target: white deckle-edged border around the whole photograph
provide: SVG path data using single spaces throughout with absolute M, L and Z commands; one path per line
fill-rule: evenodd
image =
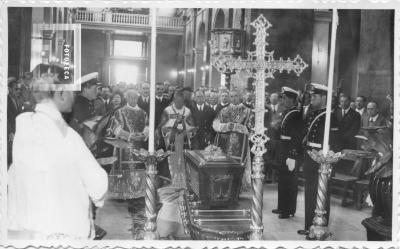
M 399 248 L 400 206 L 399 206 L 399 163 L 400 163 L 400 14 L 398 1 L 390 0 L 165 0 L 165 1 L 1 1 L 0 3 L 0 248 Z M 394 9 L 394 122 L 393 122 L 393 216 L 392 241 L 9 241 L 7 227 L 7 72 L 8 72 L 8 15 L 7 7 L 143 7 L 143 8 L 313 8 L 313 9 Z M 397 165 L 396 167 L 394 167 Z M 268 224 L 265 224 L 266 226 Z

